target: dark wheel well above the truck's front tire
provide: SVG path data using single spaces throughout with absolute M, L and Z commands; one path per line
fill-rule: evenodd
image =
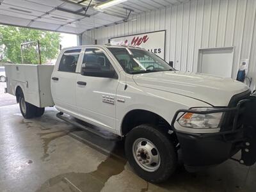
M 151 111 L 143 109 L 134 109 L 129 111 L 122 122 L 122 134 L 125 136 L 131 129 L 141 124 L 157 125 L 164 132 L 172 129 L 171 125 L 163 117 Z

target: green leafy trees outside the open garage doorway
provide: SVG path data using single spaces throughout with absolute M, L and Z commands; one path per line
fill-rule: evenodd
M 13 26 L 0 26 L 0 55 L 3 56 L 3 61 L 22 63 L 20 44 L 37 40 L 40 42 L 42 63 L 55 59 L 60 51 L 60 33 L 16 28 Z M 39 63 L 36 43 L 24 46 L 23 58 L 24 63 Z

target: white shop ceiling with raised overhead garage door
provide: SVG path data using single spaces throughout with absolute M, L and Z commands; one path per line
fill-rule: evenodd
M 106 0 L 0 0 L 0 24 L 79 35 L 132 16 L 189 0 L 127 0 L 103 10 Z

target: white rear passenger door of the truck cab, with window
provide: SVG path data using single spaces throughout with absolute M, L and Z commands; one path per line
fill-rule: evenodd
M 60 59 L 60 64 L 52 72 L 52 99 L 56 108 L 62 112 L 76 112 L 76 67 L 80 52 L 81 49 L 65 51 Z

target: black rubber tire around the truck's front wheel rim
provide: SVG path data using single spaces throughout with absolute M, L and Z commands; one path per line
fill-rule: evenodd
M 134 142 L 136 143 L 136 140 L 140 140 L 140 138 L 145 138 L 152 142 L 159 152 L 161 161 L 159 162 L 159 167 L 157 170 L 154 170 L 154 172 L 144 170 L 139 163 L 137 163 L 138 160 L 135 160 L 136 157 L 133 155 L 133 145 Z M 153 127 L 152 125 L 139 125 L 134 127 L 134 129 L 127 134 L 125 139 L 125 155 L 134 171 L 148 182 L 164 182 L 177 168 L 177 151 L 172 141 L 170 141 L 167 134 L 159 131 L 157 127 Z

